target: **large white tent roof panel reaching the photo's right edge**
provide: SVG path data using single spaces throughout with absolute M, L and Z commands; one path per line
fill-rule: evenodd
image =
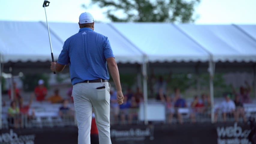
M 256 41 L 233 25 L 180 24 L 178 27 L 210 52 L 215 62 L 256 61 Z

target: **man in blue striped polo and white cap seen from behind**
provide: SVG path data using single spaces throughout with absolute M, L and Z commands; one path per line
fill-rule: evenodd
M 78 144 L 90 144 L 92 108 L 99 143 L 111 144 L 107 66 L 116 85 L 118 103 L 122 104 L 124 96 L 118 67 L 108 38 L 94 32 L 94 19 L 90 13 L 79 16 L 79 27 L 79 32 L 65 41 L 57 63 L 51 63 L 51 70 L 61 72 L 69 64 L 78 124 Z

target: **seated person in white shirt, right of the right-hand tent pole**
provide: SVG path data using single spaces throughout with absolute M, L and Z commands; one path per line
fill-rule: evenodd
M 215 122 L 217 122 L 218 112 L 223 115 L 223 122 L 227 121 L 227 116 L 234 116 L 234 112 L 236 109 L 235 103 L 230 99 L 231 95 L 226 93 L 224 94 L 225 100 L 219 105 L 217 111 L 215 112 Z

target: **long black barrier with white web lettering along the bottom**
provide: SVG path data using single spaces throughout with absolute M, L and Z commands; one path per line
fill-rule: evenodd
M 255 123 L 112 125 L 112 144 L 255 144 Z M 1 144 L 77 143 L 77 127 L 5 129 Z

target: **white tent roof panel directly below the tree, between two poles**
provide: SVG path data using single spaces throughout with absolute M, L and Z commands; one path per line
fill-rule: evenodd
M 112 23 L 150 62 L 207 61 L 209 54 L 169 23 Z

